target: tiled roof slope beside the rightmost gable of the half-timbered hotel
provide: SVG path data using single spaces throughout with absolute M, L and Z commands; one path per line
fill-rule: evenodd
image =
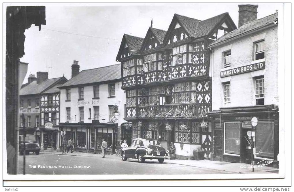
M 197 29 L 195 30 L 194 37 L 202 37 L 208 35 L 213 28 L 217 26 L 217 24 L 224 18 L 225 15 L 229 16 L 229 13 L 223 13 L 214 17 L 211 17 L 209 19 L 205 19 L 203 21 L 199 21 L 199 25 L 197 26 Z

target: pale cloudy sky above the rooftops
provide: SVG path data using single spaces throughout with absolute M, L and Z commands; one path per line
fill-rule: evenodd
M 49 78 L 71 78 L 71 65 L 79 61 L 80 71 L 117 64 L 116 55 L 123 34 L 144 38 L 153 27 L 167 30 L 173 15 L 208 19 L 228 12 L 238 26 L 240 3 L 189 4 L 42 4 L 46 6 L 46 25 L 25 31 L 25 55 L 29 74 L 49 72 Z M 30 4 L 31 5 L 31 4 Z M 41 5 L 41 4 L 38 4 Z M 258 4 L 257 19 L 281 10 L 282 4 Z

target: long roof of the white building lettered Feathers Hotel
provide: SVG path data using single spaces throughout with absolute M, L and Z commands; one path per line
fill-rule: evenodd
M 121 79 L 121 64 L 83 70 L 60 87 L 91 84 L 116 79 Z

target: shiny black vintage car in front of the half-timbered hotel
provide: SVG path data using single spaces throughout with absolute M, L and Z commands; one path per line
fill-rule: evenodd
M 136 158 L 140 163 L 145 159 L 158 159 L 163 163 L 164 159 L 170 158 L 169 151 L 161 147 L 158 140 L 137 138 L 133 140 L 130 147 L 121 150 L 121 158 L 126 161 L 128 158 Z

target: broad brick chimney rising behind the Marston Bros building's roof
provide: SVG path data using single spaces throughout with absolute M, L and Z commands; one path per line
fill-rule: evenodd
M 257 19 L 258 5 L 238 5 L 239 6 L 239 22 L 238 27 Z

